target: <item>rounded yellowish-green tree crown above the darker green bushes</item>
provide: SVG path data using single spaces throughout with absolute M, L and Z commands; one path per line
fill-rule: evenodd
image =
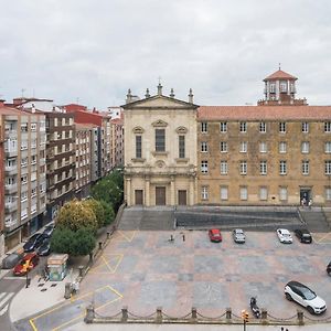
M 82 227 L 87 227 L 95 233 L 97 229 L 97 218 L 89 206 L 74 199 L 65 203 L 60 210 L 56 226 L 60 228 L 70 228 L 74 232 Z

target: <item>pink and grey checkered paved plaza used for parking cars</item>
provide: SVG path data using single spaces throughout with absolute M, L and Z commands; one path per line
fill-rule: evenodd
M 124 306 L 137 316 L 149 316 L 157 307 L 171 317 L 183 317 L 192 307 L 206 317 L 221 316 L 227 307 L 239 316 L 243 309 L 249 311 L 252 296 L 271 317 L 287 319 L 300 309 L 284 296 L 285 284 L 292 279 L 327 301 L 324 319 L 331 317 L 330 259 L 331 234 L 316 234 L 311 245 L 297 238 L 285 245 L 274 232 L 246 232 L 246 243 L 235 244 L 231 232 L 223 233 L 222 243 L 211 243 L 206 231 L 118 231 L 77 297 L 34 316 L 30 324 L 46 330 L 47 322 L 50 330 L 64 330 L 82 322 L 89 302 L 99 316 L 113 316 Z M 30 330 L 23 325 L 18 323 L 19 330 Z

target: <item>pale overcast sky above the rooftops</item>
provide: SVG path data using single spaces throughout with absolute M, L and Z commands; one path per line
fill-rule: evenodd
M 330 0 L 0 0 L 0 95 L 106 108 L 128 88 L 256 104 L 278 70 L 331 105 Z

